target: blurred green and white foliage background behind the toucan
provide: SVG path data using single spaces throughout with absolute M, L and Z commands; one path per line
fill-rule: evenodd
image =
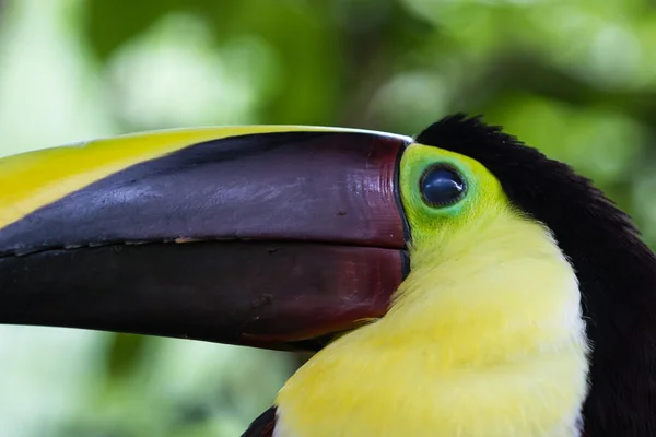
M 456 110 L 571 163 L 656 244 L 655 1 L 0 0 L 0 155 L 197 125 L 415 134 Z M 0 327 L 0 436 L 238 436 L 297 362 Z

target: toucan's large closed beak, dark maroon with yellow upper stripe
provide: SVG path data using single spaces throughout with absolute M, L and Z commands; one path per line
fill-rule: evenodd
M 410 140 L 216 132 L 0 161 L 0 323 L 305 349 L 383 316 L 408 270 Z

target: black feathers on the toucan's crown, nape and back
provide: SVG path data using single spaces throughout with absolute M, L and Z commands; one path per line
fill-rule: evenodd
M 594 347 L 585 435 L 656 436 L 656 257 L 629 216 L 570 166 L 478 117 L 446 117 L 417 142 L 484 165 L 573 264 Z

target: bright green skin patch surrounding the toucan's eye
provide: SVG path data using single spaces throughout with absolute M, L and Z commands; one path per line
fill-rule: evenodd
M 456 203 L 446 206 L 426 204 L 421 193 L 421 178 L 435 164 L 455 168 L 465 180 L 467 191 Z M 457 153 L 422 144 L 411 144 L 401 157 L 401 201 L 410 224 L 412 246 L 441 240 L 490 210 L 507 205 L 501 185 L 480 163 Z

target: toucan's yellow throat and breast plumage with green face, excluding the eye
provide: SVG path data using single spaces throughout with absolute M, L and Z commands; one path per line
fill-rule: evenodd
M 478 194 L 429 221 L 403 191 L 411 274 L 384 318 L 288 381 L 277 437 L 578 435 L 588 347 L 571 265 L 480 164 L 417 144 L 403 156 L 427 158 L 457 161 Z

